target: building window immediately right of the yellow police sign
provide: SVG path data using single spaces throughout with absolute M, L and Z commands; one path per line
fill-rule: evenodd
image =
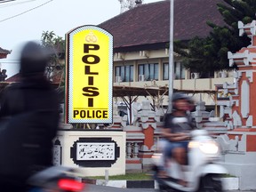
M 133 65 L 116 66 L 115 73 L 121 82 L 133 82 Z

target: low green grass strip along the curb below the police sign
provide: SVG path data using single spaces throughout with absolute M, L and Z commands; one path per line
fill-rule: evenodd
M 105 176 L 88 177 L 92 180 L 105 180 Z M 125 175 L 108 176 L 108 180 L 152 180 L 152 176 L 146 172 L 126 173 Z

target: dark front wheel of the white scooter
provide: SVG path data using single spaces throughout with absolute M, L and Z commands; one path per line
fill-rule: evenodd
M 220 175 L 207 174 L 200 180 L 197 192 L 223 192 Z

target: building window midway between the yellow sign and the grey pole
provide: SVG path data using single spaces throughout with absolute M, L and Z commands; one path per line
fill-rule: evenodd
M 138 71 L 145 81 L 158 80 L 158 63 L 140 64 Z

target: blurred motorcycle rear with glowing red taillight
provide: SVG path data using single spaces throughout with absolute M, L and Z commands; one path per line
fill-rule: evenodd
M 80 192 L 84 183 L 77 179 L 76 170 L 64 166 L 52 166 L 37 172 L 28 179 L 29 192 Z

